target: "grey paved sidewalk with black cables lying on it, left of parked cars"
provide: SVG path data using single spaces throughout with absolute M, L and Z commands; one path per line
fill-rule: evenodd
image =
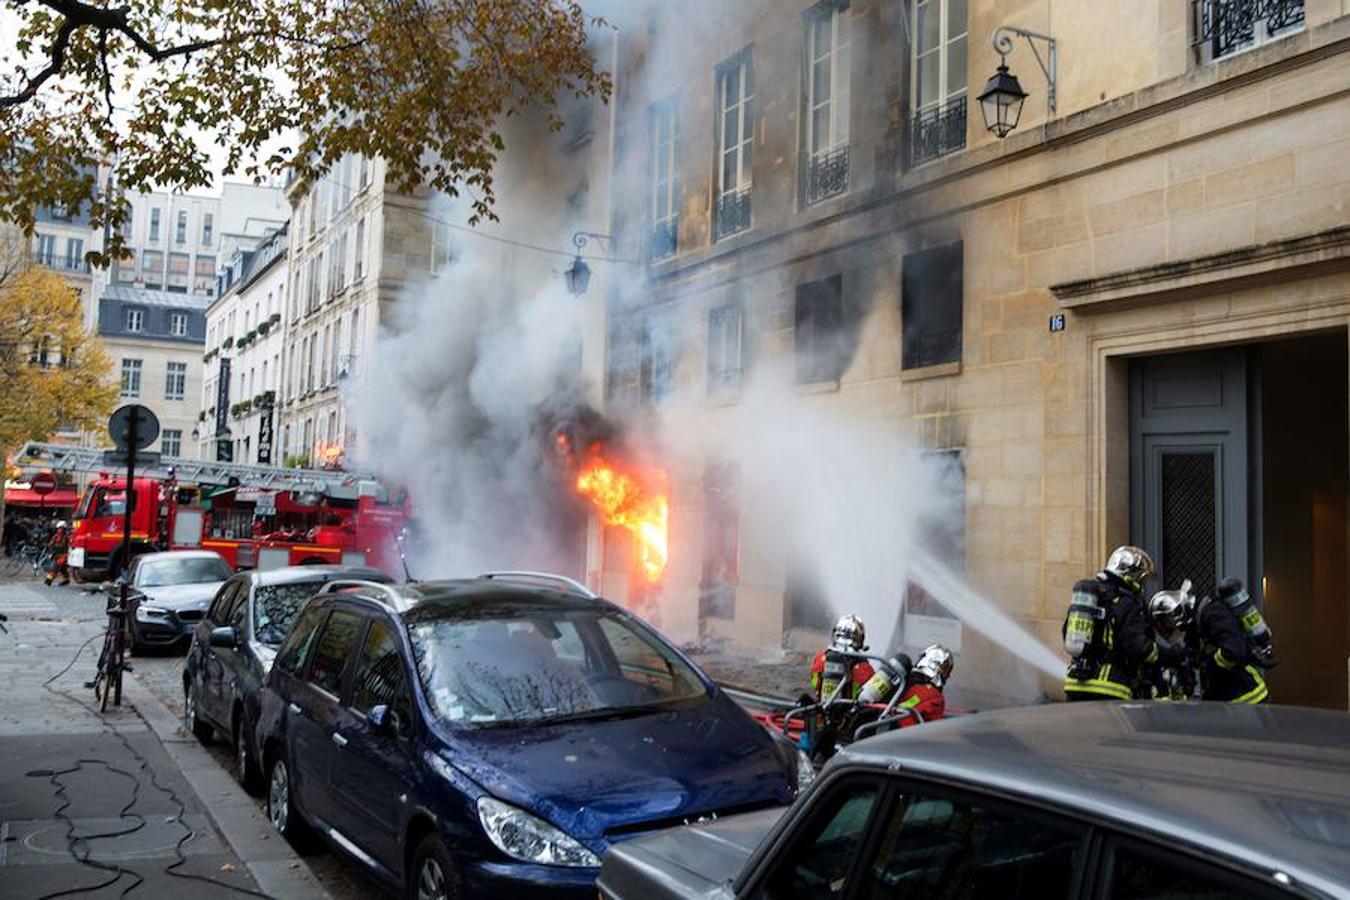
M 103 607 L 101 595 L 73 587 L 0 583 L 9 619 L 0 634 L 0 896 L 327 897 L 256 803 L 134 677 L 123 706 L 99 715 L 84 683 Z

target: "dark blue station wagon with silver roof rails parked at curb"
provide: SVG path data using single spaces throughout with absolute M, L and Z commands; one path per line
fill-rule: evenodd
M 556 576 L 332 582 L 262 691 L 267 811 L 409 897 L 587 897 L 605 850 L 811 777 L 641 621 Z

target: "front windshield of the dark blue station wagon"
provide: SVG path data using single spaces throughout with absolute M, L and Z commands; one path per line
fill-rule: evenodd
M 433 711 L 467 727 L 609 718 L 707 694 L 688 664 L 612 611 L 479 610 L 408 631 Z

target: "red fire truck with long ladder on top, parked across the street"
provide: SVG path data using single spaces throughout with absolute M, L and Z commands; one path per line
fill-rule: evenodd
M 126 475 L 109 474 L 103 451 L 59 444 L 26 444 L 16 461 L 96 474 L 76 506 L 70 571 L 80 582 L 120 572 Z M 397 578 L 408 519 L 406 495 L 369 475 L 162 457 L 136 466 L 126 556 L 208 549 L 236 569 L 340 563 Z

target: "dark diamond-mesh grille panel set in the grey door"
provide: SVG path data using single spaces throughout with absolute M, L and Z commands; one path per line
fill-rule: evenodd
M 1162 587 L 1214 591 L 1219 519 L 1214 453 L 1162 455 Z

